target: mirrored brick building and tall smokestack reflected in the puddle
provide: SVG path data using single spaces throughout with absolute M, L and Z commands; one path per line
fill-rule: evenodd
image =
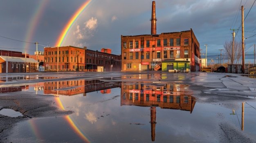
M 151 140 L 155 141 L 156 107 L 164 109 L 186 110 L 192 113 L 195 98 L 187 85 L 162 82 L 122 83 L 121 106 L 150 107 Z

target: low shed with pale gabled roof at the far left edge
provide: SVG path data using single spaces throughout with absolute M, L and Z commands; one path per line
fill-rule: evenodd
M 32 58 L 0 56 L 0 73 L 30 73 L 38 71 L 38 62 Z

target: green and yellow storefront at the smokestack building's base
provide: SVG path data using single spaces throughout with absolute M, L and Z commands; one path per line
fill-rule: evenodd
M 162 70 L 190 70 L 190 61 L 162 61 Z

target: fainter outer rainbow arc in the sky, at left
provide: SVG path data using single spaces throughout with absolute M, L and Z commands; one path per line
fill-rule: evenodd
M 35 32 L 36 26 L 38 25 L 38 22 L 43 14 L 43 10 L 45 9 L 48 2 L 49 2 L 49 0 L 42 0 L 37 5 L 36 11 L 34 12 L 34 15 L 30 19 L 29 25 L 27 26 L 27 34 L 25 36 L 25 41 L 28 41 L 28 42 L 32 41 L 32 37 Z M 24 45 L 25 50 L 27 50 L 29 44 L 31 44 L 28 42 L 25 42 L 25 45 Z

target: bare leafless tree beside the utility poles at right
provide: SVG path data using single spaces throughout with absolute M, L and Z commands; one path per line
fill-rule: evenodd
M 232 59 L 232 49 L 233 49 L 233 41 L 226 41 L 224 44 L 224 48 L 226 50 L 226 55 L 228 59 L 231 61 Z M 234 57 L 233 64 L 238 64 L 239 60 L 242 56 L 242 43 L 238 43 L 236 40 L 234 41 Z M 231 62 L 232 63 L 232 62 Z

